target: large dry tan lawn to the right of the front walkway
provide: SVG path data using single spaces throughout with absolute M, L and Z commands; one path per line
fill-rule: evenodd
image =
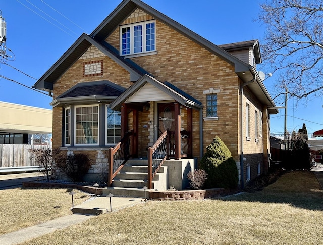
M 260 192 L 149 201 L 24 244 L 322 244 L 322 198 L 313 173 L 289 172 Z

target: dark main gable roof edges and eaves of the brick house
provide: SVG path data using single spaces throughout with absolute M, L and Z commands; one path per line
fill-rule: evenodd
M 200 46 L 212 54 L 217 55 L 235 67 L 236 74 L 243 82 L 248 82 L 256 77 L 256 82 L 249 85 L 250 90 L 256 94 L 261 103 L 268 107 L 275 107 L 270 94 L 264 87 L 261 79 L 259 78 L 254 67 L 249 66 L 233 55 L 229 54 L 223 48 L 213 44 L 205 38 L 199 36 L 195 32 L 189 30 L 178 22 L 172 20 L 168 16 L 160 13 L 149 5 L 141 2 L 140 0 L 124 0 L 121 4 L 105 18 L 105 20 L 90 34 L 82 34 L 81 37 L 69 48 L 67 52 L 35 83 L 34 88 L 51 92 L 53 90 L 53 83 L 55 83 L 72 65 L 76 62 L 81 55 L 91 46 L 94 45 L 99 48 L 105 55 L 109 56 L 119 65 L 124 67 L 130 73 L 130 80 L 135 81 L 141 75 L 147 74 L 143 72 L 144 69 L 139 69 L 130 59 L 124 59 L 112 50 L 112 47 L 105 42 L 109 36 L 119 25 L 135 10 L 141 9 L 147 14 L 155 17 L 159 21 L 183 34 L 187 38 L 196 42 Z M 270 109 L 271 114 L 278 113 L 277 109 Z

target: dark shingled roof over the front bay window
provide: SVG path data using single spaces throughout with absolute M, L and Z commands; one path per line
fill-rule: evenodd
M 50 105 L 82 104 L 85 102 L 111 102 L 126 89 L 110 81 L 81 82 L 54 99 Z

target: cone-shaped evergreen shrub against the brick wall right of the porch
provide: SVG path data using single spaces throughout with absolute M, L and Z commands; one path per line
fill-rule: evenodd
M 236 188 L 238 170 L 231 152 L 219 137 L 215 137 L 206 147 L 201 169 L 207 173 L 206 188 Z

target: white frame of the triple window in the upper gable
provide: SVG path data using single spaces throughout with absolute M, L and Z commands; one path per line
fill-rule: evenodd
M 149 50 L 146 51 L 146 24 L 149 23 L 155 23 L 155 49 L 154 50 Z M 134 36 L 133 36 L 133 29 L 134 26 L 138 26 L 138 25 L 142 25 L 142 52 L 138 52 L 138 53 L 134 53 Z M 130 54 L 122 54 L 122 29 L 123 28 L 127 28 L 130 27 Z M 156 20 L 150 20 L 150 21 L 144 21 L 144 22 L 139 22 L 139 23 L 133 23 L 133 24 L 129 24 L 129 25 L 123 25 L 120 26 L 120 30 L 119 30 L 119 34 L 120 34 L 120 56 L 123 56 L 125 58 L 131 58 L 131 57 L 138 57 L 138 56 L 142 56 L 142 55 L 146 55 L 146 54 L 150 54 L 150 55 L 154 55 L 156 54 Z

